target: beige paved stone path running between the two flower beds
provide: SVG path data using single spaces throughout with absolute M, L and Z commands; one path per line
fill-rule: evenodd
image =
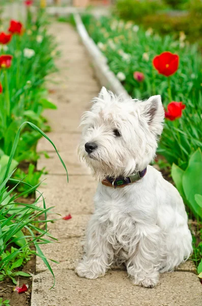
M 49 137 L 59 149 L 69 172 L 67 185 L 65 171 L 49 143 L 41 139 L 38 151 L 47 150 L 49 159 L 41 158 L 38 168 L 46 167 L 47 185 L 41 187 L 48 207 L 70 220 L 49 224 L 50 233 L 60 243 L 42 245 L 45 255 L 59 261 L 52 263 L 56 284 L 42 261 L 37 258 L 37 275 L 34 277 L 32 306 L 199 306 L 201 284 L 194 274 L 191 262 L 178 271 L 161 275 L 154 289 L 135 287 L 126 271 L 114 268 L 104 277 L 91 280 L 80 278 L 74 268 L 83 254 L 86 224 L 93 212 L 93 194 L 96 183 L 89 170 L 79 162 L 77 145 L 80 137 L 80 116 L 89 109 L 89 101 L 98 94 L 100 86 L 77 33 L 68 24 L 53 23 L 50 32 L 60 45 L 62 56 L 57 60 L 59 72 L 52 76 L 56 84 L 48 84 L 50 98 L 57 111 L 46 111 L 52 126 Z M 54 218 L 56 215 L 49 215 Z M 57 216 L 58 217 L 58 216 Z

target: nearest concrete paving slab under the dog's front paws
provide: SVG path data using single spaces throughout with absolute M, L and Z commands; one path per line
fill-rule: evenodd
M 32 306 L 200 306 L 202 286 L 189 272 L 160 276 L 156 288 L 133 286 L 125 271 L 86 279 L 71 270 L 54 269 L 56 284 L 48 271 L 35 276 Z

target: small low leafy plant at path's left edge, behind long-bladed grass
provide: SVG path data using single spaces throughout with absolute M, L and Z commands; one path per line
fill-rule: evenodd
M 42 174 L 45 174 L 46 172 L 44 171 L 45 168 L 43 168 L 40 171 L 36 171 L 35 170 L 35 165 L 30 164 L 28 166 L 28 173 L 26 174 L 22 169 L 17 169 L 13 175 L 13 179 L 17 179 L 19 181 L 23 181 L 25 183 L 28 183 L 28 185 L 18 185 L 17 186 L 17 190 L 19 192 L 24 192 L 27 191 L 27 193 L 24 194 L 24 197 L 27 197 L 30 194 L 33 194 L 34 192 L 32 191 L 32 193 L 28 192 L 29 185 L 37 185 L 39 183 L 40 177 Z

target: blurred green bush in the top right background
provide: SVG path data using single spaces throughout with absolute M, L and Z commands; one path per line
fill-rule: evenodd
M 182 9 L 170 10 L 171 9 Z M 164 9 L 164 10 L 163 10 Z M 200 0 L 166 0 L 155 4 L 153 1 L 118 1 L 115 13 L 125 19 L 142 24 L 145 29 L 152 27 L 160 34 L 185 32 L 190 42 L 202 45 L 202 2 Z

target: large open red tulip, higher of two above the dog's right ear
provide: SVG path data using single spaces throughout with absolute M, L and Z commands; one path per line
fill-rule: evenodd
M 178 70 L 179 56 L 171 52 L 163 52 L 153 59 L 153 65 L 160 74 L 169 77 Z

